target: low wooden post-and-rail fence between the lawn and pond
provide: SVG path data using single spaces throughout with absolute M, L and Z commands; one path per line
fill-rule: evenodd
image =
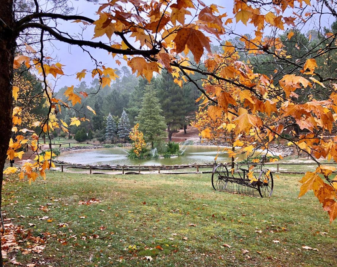
M 337 164 L 337 162 L 331 162 L 331 163 L 321 163 L 322 165 L 327 164 Z M 232 166 L 232 164 L 224 164 L 225 166 Z M 317 165 L 316 163 L 252 163 L 248 164 L 250 166 L 276 166 L 276 172 L 277 173 L 286 173 L 286 174 L 304 174 L 305 172 L 280 172 L 279 166 L 281 165 Z M 76 169 L 89 169 L 90 174 L 92 174 L 92 170 L 112 170 L 112 171 L 122 171 L 121 174 L 127 174 L 125 171 L 133 171 L 133 172 L 141 172 L 141 171 L 165 171 L 165 170 L 183 170 L 183 169 L 195 169 L 196 172 L 199 172 L 199 169 L 202 168 L 212 168 L 213 164 L 190 164 L 190 165 L 143 165 L 143 166 L 137 166 L 137 165 L 123 165 L 123 166 L 95 166 L 95 165 L 75 165 L 75 164 L 56 164 L 55 166 L 60 166 L 61 171 L 63 172 L 63 168 L 76 168 Z M 235 164 L 236 169 L 239 169 L 239 166 L 243 166 L 243 164 Z M 133 174 L 130 173 L 130 174 Z M 212 171 L 206 171 L 203 173 L 211 173 Z M 188 173 L 194 173 L 194 172 L 171 172 L 171 173 L 163 173 L 162 174 L 188 174 Z

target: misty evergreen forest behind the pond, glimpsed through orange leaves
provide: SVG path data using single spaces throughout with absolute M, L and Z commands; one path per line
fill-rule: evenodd
M 337 23 L 334 22 L 330 29 L 325 29 L 325 32 L 336 31 L 336 28 Z M 246 36 L 250 38 L 248 34 Z M 286 51 L 292 51 L 292 57 L 287 59 L 292 62 L 296 62 L 302 58 L 311 47 L 325 46 L 323 36 L 319 35 L 316 31 L 308 31 L 304 34 L 301 31 L 292 30 L 280 35 L 279 38 L 285 45 Z M 239 48 L 239 60 L 254 63 L 256 71 L 268 77 L 272 76 L 275 81 L 281 79 L 282 75 L 274 75 L 278 66 L 272 55 L 255 55 L 245 52 L 245 41 L 242 38 L 230 39 L 229 41 Z M 221 44 L 224 45 L 224 43 Z M 213 52 L 220 52 L 223 50 L 223 47 L 211 45 Z M 240 50 L 240 48 L 242 49 Z M 335 77 L 335 70 L 337 68 L 336 58 L 335 54 L 331 54 L 329 64 L 327 65 L 325 58 L 317 57 L 317 63 L 325 66 L 317 69 L 317 72 L 328 72 L 329 76 Z M 195 65 L 193 62 L 192 64 Z M 203 61 L 197 67 L 206 69 Z M 27 85 L 28 82 L 29 86 L 25 88 L 27 92 L 38 90 L 40 85 L 36 77 L 29 72 L 23 73 L 24 75 L 20 79 L 14 79 L 16 85 L 22 88 L 23 84 Z M 110 87 L 105 86 L 102 88 L 99 79 L 94 79 L 90 84 L 84 81 L 80 82 L 80 84 L 74 87 L 74 91 L 81 94 L 84 98 L 81 104 L 75 103 L 74 106 L 72 106 L 71 101 L 67 101 L 68 97 L 64 94 L 68 88 L 66 86 L 60 88 L 56 96 L 63 101 L 67 101 L 71 108 L 63 109 L 62 112 L 56 114 L 56 118 L 62 119 L 69 125 L 68 138 L 71 138 L 71 135 L 75 135 L 78 141 L 84 141 L 90 137 L 89 139 L 96 138 L 100 142 L 117 142 L 118 140 L 126 142 L 128 141 L 127 133 L 131 127 L 136 123 L 140 123 L 140 130 L 145 133 L 146 140 L 153 145 L 156 138 L 163 139 L 168 137 L 171 140 L 172 134 L 177 130 L 184 129 L 186 132 L 187 125 L 195 119 L 195 113 L 200 111 L 196 100 L 200 97 L 201 92 L 197 87 L 193 83 L 188 82 L 183 82 L 183 86 L 180 87 L 174 82 L 175 78 L 166 70 L 163 70 L 160 75 L 153 77 L 151 83 L 142 77 L 137 77 L 136 74 L 132 74 L 130 68 L 126 66 L 122 66 L 116 70 L 116 74 L 119 78 L 113 80 Z M 199 87 L 203 88 L 203 82 L 205 81 L 203 79 L 207 78 L 206 76 L 194 73 L 191 77 L 197 81 Z M 297 94 L 297 96 L 294 95 L 292 97 L 294 101 L 297 101 L 297 99 L 300 101 L 302 98 L 308 97 L 307 91 L 303 91 L 303 89 L 301 92 L 297 92 Z M 311 97 L 316 96 L 313 95 Z M 18 106 L 25 106 L 27 105 L 27 101 L 34 101 L 34 99 L 27 100 L 21 95 L 17 104 Z M 91 107 L 96 115 L 86 109 L 85 107 L 87 106 Z M 29 116 L 47 113 L 47 106 L 44 107 L 41 103 L 36 106 L 31 105 L 31 107 L 29 115 L 26 116 L 27 127 L 31 126 L 28 123 L 31 121 L 28 119 Z M 83 121 L 81 127 L 76 127 L 76 125 L 70 126 L 71 118 L 83 117 L 83 115 L 88 120 Z M 110 126 L 107 125 L 108 117 L 110 121 L 111 118 L 114 120 L 115 126 L 111 122 Z M 295 125 L 296 127 L 298 125 Z M 108 132 L 109 129 L 112 129 L 112 132 Z M 76 133 L 78 134 L 76 135 Z M 62 130 L 58 130 L 57 134 L 65 136 Z

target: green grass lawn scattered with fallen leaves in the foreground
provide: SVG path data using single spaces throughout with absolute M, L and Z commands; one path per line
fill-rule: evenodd
M 210 174 L 13 179 L 3 191 L 6 217 L 49 235 L 39 256 L 9 256 L 24 266 L 336 266 L 336 223 L 311 192 L 297 198 L 300 175 L 279 177 L 270 199 L 214 191 Z M 79 205 L 91 198 L 101 202 Z

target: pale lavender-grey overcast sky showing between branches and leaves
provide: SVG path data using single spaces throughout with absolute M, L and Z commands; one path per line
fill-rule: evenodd
M 101 3 L 105 1 L 99 1 Z M 224 9 L 220 9 L 220 12 L 226 12 L 227 17 L 226 18 L 233 18 L 233 0 L 204 0 L 204 3 L 206 5 L 210 4 L 217 4 L 219 6 L 222 6 Z M 92 18 L 92 19 L 98 19 L 98 16 L 96 15 L 96 11 L 99 7 L 98 4 L 94 4 L 91 2 L 87 2 L 85 0 L 79 0 L 79 1 L 69 1 L 69 4 L 73 5 L 74 11 L 73 13 L 81 14 L 83 16 Z M 291 16 L 292 14 L 287 14 L 288 16 Z M 235 21 L 235 20 L 233 20 Z M 61 21 L 58 21 L 61 22 Z M 326 20 L 327 26 L 329 23 L 328 19 Z M 82 23 L 71 23 L 71 22 L 62 22 L 62 24 L 58 25 L 58 28 L 64 32 L 68 32 L 70 34 L 78 34 L 82 33 L 81 30 Z M 252 33 L 254 30 L 251 24 L 248 24 L 248 26 L 245 26 L 242 24 L 242 22 L 239 22 L 238 24 L 233 24 L 233 27 L 235 27 L 235 32 L 238 32 L 240 34 L 245 33 Z M 90 40 L 93 36 L 93 27 L 90 26 L 83 32 L 83 37 L 85 39 Z M 105 39 L 104 39 L 105 38 Z M 93 39 L 93 41 L 108 41 L 106 37 L 99 37 Z M 118 40 L 119 41 L 119 40 Z M 48 77 L 50 79 L 50 82 L 55 84 L 55 90 L 58 91 L 63 86 L 71 86 L 71 85 L 78 85 L 79 81 L 76 80 L 76 72 L 81 71 L 82 69 L 93 69 L 95 67 L 92 59 L 88 55 L 88 53 L 83 52 L 83 50 L 78 46 L 70 46 L 66 43 L 62 43 L 60 41 L 55 41 L 52 44 L 46 44 L 46 53 L 50 55 L 53 58 L 56 58 L 58 62 L 65 65 L 63 67 L 65 76 L 61 76 L 57 81 L 52 81 L 52 77 Z M 112 68 L 120 68 L 122 65 L 126 65 L 124 60 L 120 60 L 122 62 L 121 66 L 118 66 L 115 62 L 117 57 L 113 59 L 111 55 L 108 55 L 108 53 L 104 50 L 100 49 L 90 49 L 86 48 L 88 51 L 90 51 L 91 55 L 99 62 L 102 62 L 103 64 L 106 64 L 105 66 L 109 66 Z M 85 79 L 87 84 L 89 85 L 92 77 L 89 73 L 87 73 Z

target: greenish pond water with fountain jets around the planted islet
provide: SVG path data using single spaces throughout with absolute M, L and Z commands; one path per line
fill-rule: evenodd
M 181 157 L 143 159 L 141 165 L 182 165 L 182 164 L 205 164 L 213 163 L 218 152 L 217 147 L 212 146 L 181 146 L 185 150 L 185 155 Z M 127 157 L 130 147 L 115 147 L 87 150 L 73 150 L 62 152 L 58 160 L 63 160 L 71 164 L 100 165 L 138 165 L 137 159 Z M 219 153 L 217 162 L 229 162 L 227 154 Z

